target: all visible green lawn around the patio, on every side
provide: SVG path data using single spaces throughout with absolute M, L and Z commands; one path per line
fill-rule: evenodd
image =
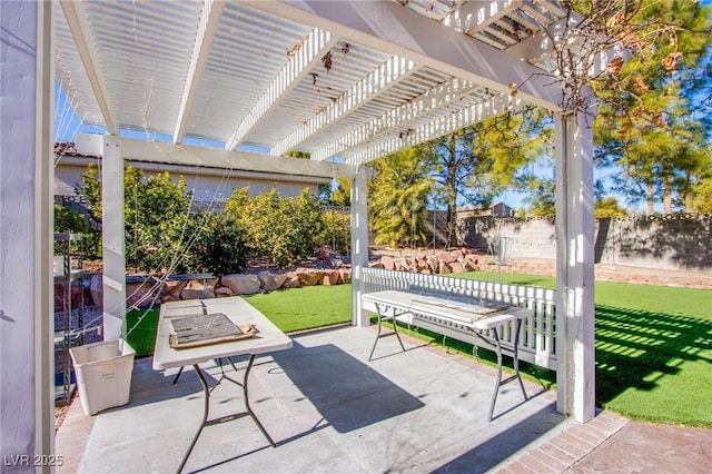
M 458 277 L 498 282 L 496 271 Z M 555 288 L 544 276 L 502 274 L 503 283 Z M 350 285 L 312 286 L 253 295 L 246 299 L 281 330 L 296 330 L 350 320 Z M 712 290 L 599 282 L 596 308 L 596 402 L 634 419 L 712 426 Z M 137 356 L 154 350 L 157 310 L 127 316 L 129 344 Z M 144 317 L 136 325 L 138 317 Z M 442 342 L 421 332 L 418 337 Z M 452 339 L 449 339 L 452 340 Z M 449 345 L 449 344 L 448 344 Z M 453 348 L 472 354 L 472 345 Z M 477 357 L 494 361 L 479 349 Z M 544 385 L 555 374 L 526 366 Z

